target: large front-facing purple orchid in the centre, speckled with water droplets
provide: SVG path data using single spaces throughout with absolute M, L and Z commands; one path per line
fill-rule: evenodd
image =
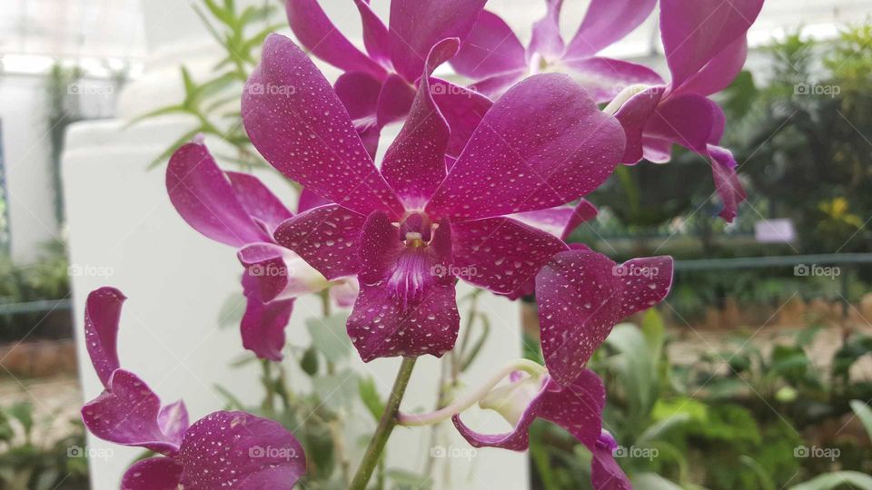
M 381 171 L 314 64 L 281 35 L 263 48 L 243 122 L 264 158 L 328 204 L 287 220 L 276 240 L 327 279 L 358 276 L 348 332 L 362 358 L 441 356 L 459 327 L 454 285 L 520 289 L 566 244 L 523 222 L 596 189 L 624 152 L 619 124 L 569 76 L 518 83 L 481 114 L 455 160 L 430 74 L 458 39 L 427 57 L 410 115 Z

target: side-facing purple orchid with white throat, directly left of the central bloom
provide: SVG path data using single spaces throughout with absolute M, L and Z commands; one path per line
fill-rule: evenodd
M 173 153 L 166 169 L 166 189 L 176 211 L 194 230 L 239 249 L 237 256 L 245 268 L 243 346 L 259 358 L 282 360 L 284 328 L 293 300 L 332 285 L 272 239 L 276 227 L 291 218 L 292 212 L 253 175 L 221 171 L 203 142 L 185 144 Z M 302 191 L 298 211 L 324 203 Z M 356 290 L 351 282 L 342 281 L 331 290 L 341 306 L 354 302 Z

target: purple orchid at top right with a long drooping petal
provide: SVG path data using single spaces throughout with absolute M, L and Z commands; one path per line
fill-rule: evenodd
M 728 222 L 748 196 L 738 180 L 736 159 L 718 146 L 725 116 L 708 95 L 727 88 L 742 70 L 746 33 L 762 7 L 763 0 L 699 0 L 692 5 L 661 0 L 660 29 L 671 81 L 639 87 L 612 103 L 619 106 L 615 116 L 627 132 L 622 162 L 633 164 L 643 157 L 669 162 L 673 143 L 708 158 L 723 201 L 719 214 Z

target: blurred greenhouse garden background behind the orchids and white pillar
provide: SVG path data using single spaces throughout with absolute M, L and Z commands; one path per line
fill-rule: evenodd
M 167 151 L 204 132 L 231 149 L 224 165 L 257 167 L 226 122 L 263 36 L 287 30 L 282 5 L 184 3 L 221 61 L 207 73 L 176 63 L 173 95 L 122 100 L 137 108 L 121 111 L 124 124 L 187 118 Z M 506 6 L 519 32 L 539 4 Z M 141 6 L 6 0 L 0 12 L 0 488 L 88 487 L 70 278 L 114 271 L 67 259 L 61 160 L 71 124 L 114 118 L 125 86 L 151 73 Z M 644 487 L 872 488 L 869 15 L 869 2 L 764 7 L 746 71 L 718 95 L 749 195 L 733 224 L 717 218 L 710 170 L 692 152 L 620 167 L 589 198 L 599 217 L 571 240 L 613 260 L 677 260 L 669 298 L 616 328 L 592 365 L 609 387 L 619 462 Z M 663 67 L 650 38 L 643 26 L 619 54 Z M 153 152 L 154 172 L 166 154 Z M 540 359 L 535 303 L 519 315 L 526 355 Z M 581 446 L 535 429 L 530 488 L 588 485 Z

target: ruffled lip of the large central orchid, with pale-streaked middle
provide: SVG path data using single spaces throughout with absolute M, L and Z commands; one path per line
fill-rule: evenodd
M 361 292 L 348 335 L 364 362 L 393 356 L 436 357 L 454 347 L 460 316 L 451 270 L 451 226 L 440 223 L 430 245 L 408 247 L 381 212 L 361 235 Z

